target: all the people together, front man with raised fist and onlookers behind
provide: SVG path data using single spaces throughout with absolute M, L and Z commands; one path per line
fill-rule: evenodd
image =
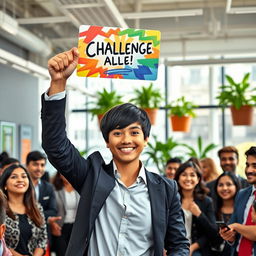
M 65 131 L 66 81 L 76 48 L 51 58 L 42 95 L 42 146 L 58 171 L 45 180 L 46 156 L 27 155 L 26 167 L 2 154 L 0 255 L 252 256 L 256 255 L 256 147 L 212 159 L 170 159 L 165 176 L 147 171 L 140 155 L 151 124 L 131 103 L 110 109 L 100 123 L 112 161 L 99 152 L 81 157 Z

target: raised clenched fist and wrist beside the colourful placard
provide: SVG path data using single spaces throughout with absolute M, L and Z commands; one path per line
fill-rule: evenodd
M 62 52 L 48 61 L 48 70 L 51 76 L 51 87 L 48 95 L 65 90 L 66 81 L 76 69 L 79 58 L 77 48 Z

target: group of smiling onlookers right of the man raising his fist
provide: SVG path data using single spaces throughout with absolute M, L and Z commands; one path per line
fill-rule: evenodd
M 226 146 L 218 151 L 222 174 L 218 173 L 217 165 L 211 158 L 197 161 L 190 159 L 183 164 L 177 157 L 167 161 L 164 176 L 175 179 L 178 183 L 190 252 L 196 250 L 200 251 L 199 255 L 216 256 L 256 255 L 256 250 L 252 250 L 256 245 L 256 222 L 253 221 L 256 209 L 256 147 L 251 147 L 245 154 L 247 179 L 236 173 L 239 154 L 233 146 Z M 252 207 L 253 204 L 255 208 Z M 198 216 L 206 218 L 201 223 L 202 226 L 196 228 L 195 219 L 199 221 Z M 249 222 L 247 218 L 250 219 Z M 224 224 L 229 228 L 220 229 Z M 205 232 L 202 236 L 204 243 L 200 241 L 200 236 L 195 235 L 195 230 Z M 212 237 L 214 233 L 215 237 Z M 251 241 L 251 251 L 243 251 L 243 239 Z M 210 244 L 207 245 L 207 242 Z

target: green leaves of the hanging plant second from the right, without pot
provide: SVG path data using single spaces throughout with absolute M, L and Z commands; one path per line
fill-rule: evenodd
M 172 115 L 179 116 L 179 117 L 182 117 L 182 116 L 195 117 L 196 116 L 193 109 L 196 108 L 197 106 L 190 101 L 186 101 L 184 96 L 171 102 L 169 105 L 167 105 L 167 107 L 170 108 L 170 112 L 169 112 L 170 116 Z

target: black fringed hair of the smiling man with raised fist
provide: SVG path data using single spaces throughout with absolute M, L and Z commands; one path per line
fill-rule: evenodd
M 131 103 L 124 103 L 111 108 L 102 118 L 100 129 L 104 140 L 108 142 L 108 136 L 114 129 L 123 129 L 132 123 L 141 125 L 144 139 L 149 137 L 151 124 L 147 113 Z

